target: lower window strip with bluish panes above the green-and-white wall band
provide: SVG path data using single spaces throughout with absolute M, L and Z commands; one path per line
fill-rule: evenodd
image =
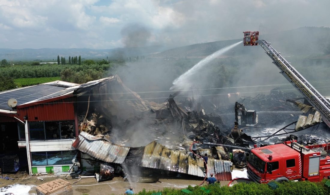
M 31 152 L 32 166 L 71 165 L 76 155 L 76 150 Z

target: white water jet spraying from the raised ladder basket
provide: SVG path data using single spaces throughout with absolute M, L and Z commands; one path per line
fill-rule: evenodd
M 227 46 L 225 48 L 222 48 L 214 53 L 212 53 L 211 55 L 207 56 L 206 58 L 202 59 L 201 61 L 199 61 L 196 65 L 194 65 L 192 68 L 190 68 L 187 72 L 183 73 L 180 77 L 178 77 L 177 79 L 175 79 L 173 81 L 173 86 L 170 88 L 170 90 L 173 90 L 175 88 L 180 88 L 180 89 L 184 89 L 187 85 L 187 82 L 189 80 L 189 78 L 194 75 L 195 73 L 197 73 L 201 68 L 203 68 L 205 65 L 207 65 L 210 61 L 212 61 L 213 59 L 215 59 L 216 57 L 220 56 L 221 54 L 223 54 L 224 52 L 234 48 L 235 46 L 238 46 L 239 44 L 241 44 L 243 41 L 240 41 L 238 43 L 235 43 L 233 45 Z

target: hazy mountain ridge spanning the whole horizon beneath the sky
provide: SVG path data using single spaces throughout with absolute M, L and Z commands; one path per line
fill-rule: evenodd
M 275 34 L 262 34 L 259 39 L 265 39 L 272 43 L 274 48 L 286 55 L 323 55 L 330 45 L 330 28 L 326 27 L 301 27 L 297 29 L 281 31 Z M 235 40 L 216 41 L 202 44 L 194 44 L 174 49 L 164 46 L 150 46 L 145 48 L 116 48 L 116 49 L 0 49 L 0 60 L 57 60 L 57 55 L 69 60 L 69 56 L 81 55 L 83 59 L 126 59 L 136 56 L 148 56 L 151 58 L 202 58 L 215 51 L 237 43 L 242 38 Z M 251 52 L 249 47 L 236 47 L 226 52 L 226 56 L 246 55 Z

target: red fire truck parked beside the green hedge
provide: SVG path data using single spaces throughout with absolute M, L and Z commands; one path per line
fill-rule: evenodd
M 296 140 L 255 147 L 248 156 L 248 178 L 269 181 L 330 179 L 329 144 L 302 146 Z

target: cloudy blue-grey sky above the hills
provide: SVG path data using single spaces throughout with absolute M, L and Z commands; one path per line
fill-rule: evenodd
M 329 0 L 0 0 L 0 48 L 113 49 L 330 27 Z

